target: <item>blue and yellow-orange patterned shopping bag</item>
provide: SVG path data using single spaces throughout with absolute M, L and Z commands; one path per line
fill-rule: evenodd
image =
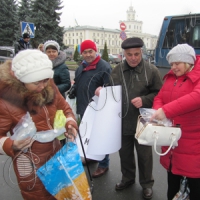
M 91 200 L 87 177 L 77 145 L 66 143 L 37 170 L 46 190 L 58 200 Z

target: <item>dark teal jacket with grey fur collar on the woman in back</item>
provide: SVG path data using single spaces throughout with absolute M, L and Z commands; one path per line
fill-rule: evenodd
M 68 91 L 71 87 L 69 70 L 65 64 L 66 57 L 66 53 L 59 51 L 58 57 L 52 61 L 54 70 L 53 79 L 64 98 L 65 92 Z

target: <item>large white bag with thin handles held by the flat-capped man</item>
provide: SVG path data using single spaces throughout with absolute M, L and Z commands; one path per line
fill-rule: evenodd
M 108 86 L 87 106 L 79 126 L 87 158 L 105 157 L 121 148 L 121 104 L 121 86 Z

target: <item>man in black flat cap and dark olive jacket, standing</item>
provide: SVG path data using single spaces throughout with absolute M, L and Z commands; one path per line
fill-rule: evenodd
M 122 85 L 122 147 L 119 150 L 122 179 L 115 189 L 123 190 L 135 183 L 136 166 L 134 147 L 137 151 L 139 182 L 145 199 L 153 195 L 152 147 L 139 145 L 135 139 L 139 108 L 151 108 L 153 99 L 162 86 L 158 69 L 142 58 L 144 42 L 137 37 L 122 42 L 125 60 L 118 64 L 111 76 L 114 85 Z

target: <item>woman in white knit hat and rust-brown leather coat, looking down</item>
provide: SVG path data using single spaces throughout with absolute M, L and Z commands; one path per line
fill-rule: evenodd
M 37 132 L 53 129 L 57 110 L 67 117 L 66 136 L 78 129 L 70 106 L 52 79 L 52 62 L 38 50 L 19 52 L 0 67 L 0 154 L 13 159 L 20 191 L 27 200 L 55 200 L 45 189 L 35 171 L 60 148 L 57 139 L 40 143 L 31 138 L 12 140 L 7 136 L 29 112 Z M 27 149 L 24 153 L 23 150 Z

